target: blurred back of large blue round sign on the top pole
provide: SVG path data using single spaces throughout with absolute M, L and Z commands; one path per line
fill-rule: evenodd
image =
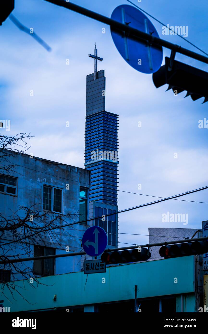
M 116 7 L 111 18 L 160 38 L 147 16 L 133 6 Z M 119 53 L 133 68 L 143 73 L 154 73 L 160 68 L 163 61 L 162 46 L 150 45 L 145 40 L 134 40 L 124 31 L 115 31 L 114 28 L 111 28 L 111 35 Z

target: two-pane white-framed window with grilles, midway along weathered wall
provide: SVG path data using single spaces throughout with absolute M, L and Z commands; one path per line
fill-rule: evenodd
M 62 189 L 43 186 L 43 209 L 62 212 Z

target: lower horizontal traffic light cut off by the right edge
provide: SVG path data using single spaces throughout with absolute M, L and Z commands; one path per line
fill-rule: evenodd
M 165 259 L 187 255 L 199 255 L 208 252 L 208 241 L 192 241 L 160 247 L 159 254 Z

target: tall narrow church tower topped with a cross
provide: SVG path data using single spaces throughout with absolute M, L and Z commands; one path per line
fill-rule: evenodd
M 91 171 L 89 190 L 89 225 L 102 227 L 108 245 L 118 245 L 118 115 L 105 110 L 105 71 L 97 71 L 95 45 L 94 73 L 86 80 L 85 169 Z M 112 214 L 107 216 L 108 214 Z M 101 217 L 97 219 L 96 217 Z

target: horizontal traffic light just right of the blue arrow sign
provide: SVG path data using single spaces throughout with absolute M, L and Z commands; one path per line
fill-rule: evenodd
M 117 263 L 129 263 L 138 261 L 147 261 L 151 257 L 151 253 L 147 248 L 135 248 L 128 251 L 104 252 L 101 255 L 102 262 L 107 265 Z

